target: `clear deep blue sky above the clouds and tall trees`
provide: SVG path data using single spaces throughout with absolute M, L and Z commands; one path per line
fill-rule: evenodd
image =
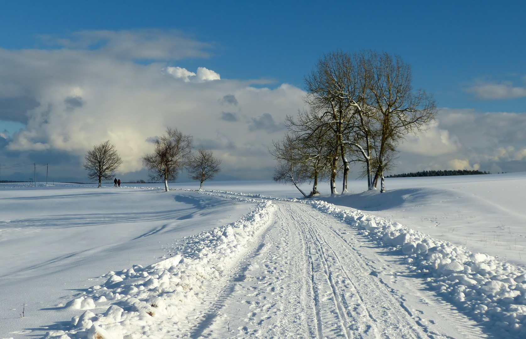
M 228 78 L 303 86 L 334 49 L 385 50 L 413 67 L 414 85 L 439 106 L 526 111 L 526 96 L 480 100 L 479 82 L 524 86 L 526 29 L 521 1 L 2 2 L 0 47 L 46 48 L 39 35 L 80 30 L 178 29 L 210 43 L 207 67 Z M 196 68 L 202 60 L 183 60 Z

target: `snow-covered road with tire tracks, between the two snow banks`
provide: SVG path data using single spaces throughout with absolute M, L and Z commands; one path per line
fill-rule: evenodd
M 360 251 L 348 225 L 305 204 L 276 205 L 247 255 L 210 282 L 194 325 L 180 337 L 484 337 L 452 307 L 440 307 L 441 314 L 423 297 L 418 306 L 431 314 L 411 312 L 418 306 L 378 276 L 375 251 Z M 427 315 L 438 318 L 422 321 Z

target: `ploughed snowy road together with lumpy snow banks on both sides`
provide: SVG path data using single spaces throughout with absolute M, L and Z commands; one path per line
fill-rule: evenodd
M 258 201 L 171 258 L 109 272 L 46 337 L 523 337 L 520 268 L 357 210 Z

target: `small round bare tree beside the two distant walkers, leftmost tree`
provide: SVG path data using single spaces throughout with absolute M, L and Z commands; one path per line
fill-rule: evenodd
M 115 171 L 123 163 L 115 145 L 109 143 L 109 140 L 93 146 L 93 149 L 86 154 L 85 159 L 84 168 L 88 170 L 88 178 L 98 180 L 98 187 L 101 187 L 100 181 L 103 179 L 113 178 Z

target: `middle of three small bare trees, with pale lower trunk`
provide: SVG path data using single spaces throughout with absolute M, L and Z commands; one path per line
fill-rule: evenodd
M 176 128 L 166 129 L 166 135 L 155 140 L 154 152 L 143 157 L 150 178 L 163 179 L 168 192 L 168 180 L 175 180 L 179 171 L 187 165 L 191 154 L 193 138 L 184 135 Z

